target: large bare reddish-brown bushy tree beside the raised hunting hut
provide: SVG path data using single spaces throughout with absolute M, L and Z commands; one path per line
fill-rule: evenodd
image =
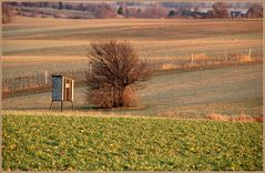
M 92 43 L 89 51 L 92 72 L 88 75 L 88 99 L 104 108 L 130 105 L 137 82 L 147 79 L 150 69 L 129 42 Z

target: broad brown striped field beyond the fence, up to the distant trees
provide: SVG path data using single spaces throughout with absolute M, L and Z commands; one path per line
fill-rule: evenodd
M 38 19 L 3 26 L 3 77 L 84 68 L 90 42 L 128 40 L 142 58 L 262 54 L 262 20 Z M 55 58 L 55 61 L 49 62 Z M 61 59 L 61 61 L 57 61 Z M 26 65 L 22 61 L 30 62 Z M 55 65 L 55 68 L 54 68 Z

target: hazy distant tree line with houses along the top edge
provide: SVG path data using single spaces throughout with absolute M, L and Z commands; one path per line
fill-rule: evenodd
M 118 7 L 110 3 L 74 3 L 74 2 L 9 2 L 12 7 L 39 7 L 58 10 L 89 11 L 95 18 L 194 18 L 194 19 L 230 19 L 230 18 L 263 18 L 262 3 L 243 3 L 251 6 L 247 12 L 238 10 L 228 11 L 228 8 L 238 6 L 237 3 L 215 2 L 215 3 L 187 3 L 187 2 L 163 2 L 153 6 L 139 6 L 141 2 L 128 3 L 119 2 Z M 136 4 L 136 6 L 135 6 Z M 173 6 L 177 4 L 177 6 Z M 197 4 L 194 7 L 194 4 Z M 211 7 L 207 11 L 203 6 Z M 170 8 L 171 7 L 171 8 Z M 173 7 L 173 8 L 172 8 Z

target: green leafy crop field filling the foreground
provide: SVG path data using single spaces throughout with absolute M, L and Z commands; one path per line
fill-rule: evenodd
M 262 171 L 262 124 L 3 114 L 6 171 Z

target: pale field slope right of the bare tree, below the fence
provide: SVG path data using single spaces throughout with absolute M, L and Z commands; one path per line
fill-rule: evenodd
M 263 67 L 243 65 L 161 75 L 142 92 L 146 114 L 262 114 Z

